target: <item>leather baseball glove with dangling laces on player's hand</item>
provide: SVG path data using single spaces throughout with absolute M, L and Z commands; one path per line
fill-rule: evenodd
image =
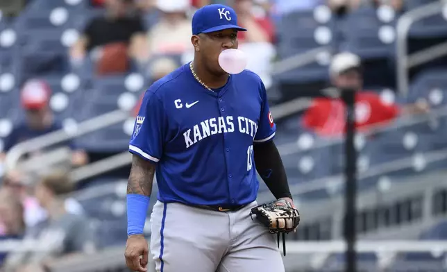
M 280 198 L 277 201 L 253 207 L 250 212 L 252 220 L 253 214 L 262 225 L 269 228 L 271 233 L 278 235 L 278 247 L 280 234 L 282 234 L 282 248 L 285 255 L 285 234 L 294 232 L 300 223 L 300 214 L 293 203 Z

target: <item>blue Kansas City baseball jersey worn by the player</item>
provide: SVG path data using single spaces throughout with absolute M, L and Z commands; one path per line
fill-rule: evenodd
M 210 91 L 188 64 L 146 91 L 129 151 L 157 164 L 162 202 L 245 205 L 259 188 L 253 144 L 275 131 L 258 75 L 244 70 Z

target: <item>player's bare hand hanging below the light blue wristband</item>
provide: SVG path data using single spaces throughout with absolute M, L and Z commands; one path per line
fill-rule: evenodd
M 143 235 L 130 235 L 126 242 L 126 265 L 132 271 L 146 272 L 149 247 Z

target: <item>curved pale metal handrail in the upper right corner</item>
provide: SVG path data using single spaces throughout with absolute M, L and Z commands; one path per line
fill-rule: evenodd
M 435 1 L 410 10 L 398 19 L 396 25 L 396 82 L 400 94 L 405 95 L 409 91 L 411 68 L 447 55 L 447 42 L 412 53 L 412 55 L 408 53 L 408 36 L 411 26 L 422 19 L 441 14 L 446 8 L 446 0 Z

